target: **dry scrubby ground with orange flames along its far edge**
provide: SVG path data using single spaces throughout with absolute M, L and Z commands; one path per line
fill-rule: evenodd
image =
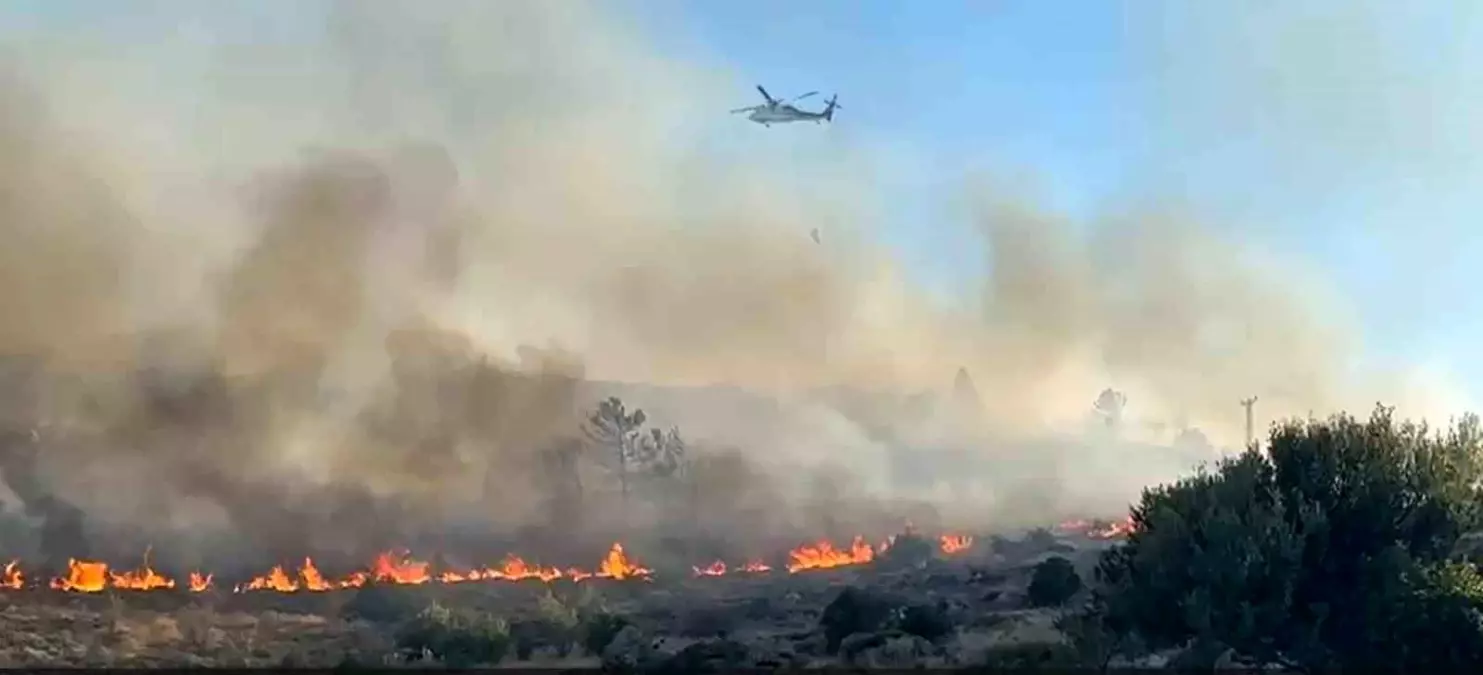
M 887 564 L 906 541 L 928 544 L 925 567 Z M 707 650 L 734 651 L 737 668 L 832 663 L 844 657 L 820 642 L 819 622 L 842 585 L 885 593 L 891 607 L 912 610 L 903 617 L 930 619 L 905 626 L 933 628 L 922 638 L 936 644 L 934 653 L 960 650 L 954 626 L 977 630 L 970 617 L 1003 602 L 986 599 L 1001 595 L 992 583 L 1003 582 L 985 586 L 986 577 L 974 573 L 998 558 L 962 534 L 814 541 L 787 552 L 792 565 L 715 561 L 678 576 L 650 571 L 623 546 L 612 546 L 590 574 L 552 574 L 558 568 L 516 559 L 489 568 L 498 574 L 451 577 L 433 562 L 386 553 L 334 579 L 305 561 L 260 576 L 276 582 L 255 589 L 252 580 L 200 586 L 171 579 L 148 561 L 128 571 L 73 561 L 58 583 L 30 582 L 21 565 L 10 565 L 21 583 L 0 590 L 0 666 L 326 668 L 433 659 L 593 668 L 610 659 L 697 659 Z M 1007 576 L 1011 586 L 1022 583 Z M 881 635 L 885 647 L 854 645 L 863 651 L 850 659 L 885 659 L 871 654 L 916 639 Z M 651 654 L 666 639 L 667 651 Z

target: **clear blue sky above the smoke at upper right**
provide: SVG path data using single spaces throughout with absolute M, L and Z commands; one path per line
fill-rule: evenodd
M 986 168 L 1072 217 L 1176 202 L 1315 269 L 1369 358 L 1483 383 L 1483 10 L 1467 3 L 638 4 L 670 49 L 777 93 L 839 90 L 841 125 L 911 147 L 887 237 L 939 288 L 982 271 L 940 205 Z

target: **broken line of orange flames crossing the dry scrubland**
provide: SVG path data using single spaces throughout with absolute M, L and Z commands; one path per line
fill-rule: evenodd
M 872 547 L 865 541 L 865 537 L 854 537 L 847 549 L 839 549 L 828 540 L 819 540 L 790 550 L 787 553 L 786 570 L 793 574 L 807 570 L 828 570 L 844 565 L 868 564 L 888 550 L 894 541 L 896 537 L 890 537 L 881 544 Z M 958 553 L 971 546 L 973 537 L 968 536 L 943 534 L 939 537 L 939 550 L 945 555 Z M 697 577 L 719 577 L 739 573 L 762 574 L 773 571 L 773 567 L 761 559 L 750 559 L 737 567 L 728 567 L 724 561 L 715 561 L 706 567 L 693 567 L 693 570 Z M 602 561 L 599 561 L 596 571 L 541 567 L 526 562 L 523 558 L 516 555 L 506 556 L 497 567 L 435 571 L 430 562 L 412 559 L 408 552 L 386 552 L 377 555 L 366 570 L 354 571 L 340 579 L 326 577 L 314 565 L 311 558 L 304 558 L 304 562 L 294 571 L 289 571 L 282 565 L 276 565 L 267 574 L 252 577 L 245 583 L 233 586 L 231 592 L 326 592 L 360 587 L 368 583 L 424 585 L 486 580 L 521 582 L 532 579 L 541 582 L 555 582 L 559 579 L 568 579 L 572 582 L 583 582 L 587 579 L 647 580 L 651 576 L 653 570 L 630 559 L 621 543 L 614 543 L 612 547 L 608 549 L 607 555 L 604 555 Z M 25 586 L 25 576 L 21 571 L 19 562 L 12 561 L 4 565 L 3 573 L 0 573 L 0 589 L 19 590 Z M 200 593 L 215 587 L 214 576 L 200 571 L 190 573 L 184 583 L 176 585 L 175 579 L 169 579 L 150 567 L 148 553 L 145 553 L 144 565 L 138 570 L 129 571 L 111 570 L 107 562 L 101 561 L 70 559 L 67 562 L 67 573 L 61 577 L 52 579 L 47 586 L 55 590 L 83 593 L 98 593 L 105 589 L 168 590 L 176 587 Z

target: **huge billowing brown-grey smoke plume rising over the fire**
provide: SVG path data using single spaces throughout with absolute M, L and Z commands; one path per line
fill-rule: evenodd
M 37 553 L 555 546 L 578 525 L 552 457 L 607 395 L 694 441 L 734 506 L 703 528 L 768 536 L 902 518 L 876 497 L 974 527 L 1115 510 L 1213 457 L 1180 429 L 1235 442 L 1241 398 L 1401 396 L 1351 372 L 1309 280 L 1166 212 L 1081 227 L 965 184 L 991 271 L 945 309 L 872 243 L 868 148 L 727 148 L 752 129 L 707 129 L 746 83 L 605 9 L 182 3 L 128 61 L 16 45 L 3 470 Z M 1109 386 L 1142 421 L 1089 432 Z

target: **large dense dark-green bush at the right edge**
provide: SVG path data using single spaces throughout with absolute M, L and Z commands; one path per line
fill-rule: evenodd
M 1483 662 L 1483 583 L 1449 561 L 1480 525 L 1477 418 L 1439 435 L 1381 408 L 1268 445 L 1143 493 L 1097 568 L 1103 628 L 1302 668 Z

